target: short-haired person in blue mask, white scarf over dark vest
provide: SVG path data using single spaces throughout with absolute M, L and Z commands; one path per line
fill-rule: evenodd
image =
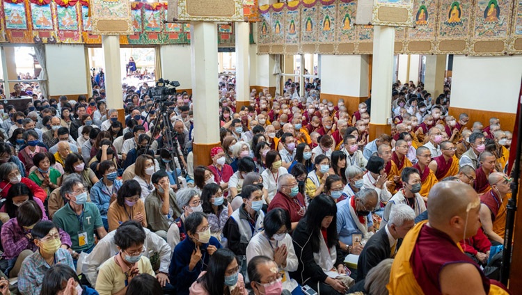
M 243 205 L 228 218 L 223 237 L 228 248 L 241 257 L 241 272 L 246 274 L 246 246 L 253 235 L 263 230 L 263 192 L 259 186 L 250 184 L 242 191 Z

